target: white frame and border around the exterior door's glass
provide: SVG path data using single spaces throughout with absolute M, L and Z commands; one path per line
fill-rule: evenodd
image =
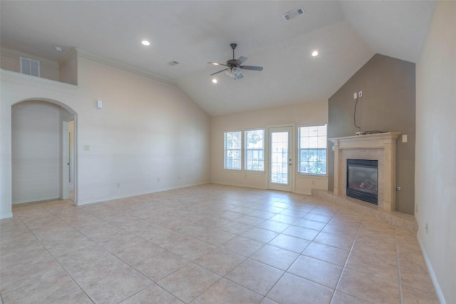
M 288 179 L 289 184 L 271 184 L 271 132 L 274 130 L 285 130 L 289 132 L 289 171 L 288 171 Z M 295 180 L 295 168 L 296 168 L 296 157 L 295 157 L 295 125 L 294 124 L 286 124 L 286 125 L 270 125 L 266 127 L 266 145 L 267 145 L 267 153 L 266 157 L 266 185 L 267 189 L 271 190 L 279 190 L 285 192 L 294 192 L 294 180 Z M 271 187 L 272 186 L 272 187 Z

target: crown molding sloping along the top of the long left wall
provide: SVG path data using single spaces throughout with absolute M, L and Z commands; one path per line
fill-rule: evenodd
M 89 51 L 85 51 L 85 50 L 83 50 L 81 48 L 74 48 L 74 49 L 75 49 L 78 57 L 85 58 L 85 59 L 88 59 L 90 61 L 95 61 L 97 63 L 101 63 L 101 64 L 104 64 L 104 65 L 108 65 L 108 66 L 113 67 L 113 68 L 118 68 L 120 70 L 125 70 L 126 72 L 133 73 L 133 74 L 136 74 L 136 75 L 140 75 L 142 77 L 155 80 L 155 81 L 157 81 L 159 83 L 164 83 L 164 84 L 167 84 L 167 85 L 172 85 L 172 86 L 177 87 L 177 84 L 174 81 L 170 80 L 169 78 L 161 77 L 161 76 L 156 75 L 154 73 L 150 73 L 149 71 L 144 70 L 142 68 L 136 68 L 136 67 L 134 67 L 132 65 L 121 63 L 119 61 L 115 61 L 113 59 L 106 58 L 104 56 L 100 56 L 100 55 L 97 55 L 97 54 L 94 54 L 94 53 L 90 53 Z

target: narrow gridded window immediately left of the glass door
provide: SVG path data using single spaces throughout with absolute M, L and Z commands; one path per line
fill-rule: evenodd
M 249 171 L 264 171 L 264 130 L 245 131 L 245 167 Z

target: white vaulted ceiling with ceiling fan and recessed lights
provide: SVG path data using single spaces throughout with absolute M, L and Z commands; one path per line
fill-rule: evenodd
M 299 7 L 306 14 L 282 19 Z M 51 60 L 73 47 L 105 56 L 224 115 L 328 100 L 375 53 L 416 62 L 434 9 L 413 0 L 1 1 L 0 42 Z M 232 42 L 236 58 L 264 70 L 243 70 L 239 80 L 219 73 L 214 85 L 209 74 L 220 68 L 207 62 L 232 58 Z

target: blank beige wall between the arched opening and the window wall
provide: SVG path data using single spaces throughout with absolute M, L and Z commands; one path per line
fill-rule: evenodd
M 82 202 L 208 182 L 209 116 L 182 90 L 86 58 L 78 75 Z

